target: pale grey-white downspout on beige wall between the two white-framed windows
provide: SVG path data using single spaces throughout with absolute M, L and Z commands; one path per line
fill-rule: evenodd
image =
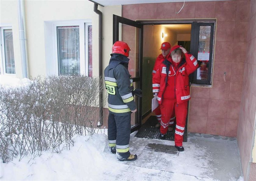
M 26 46 L 26 31 L 25 31 L 25 11 L 24 0 L 17 0 L 18 16 L 19 16 L 19 36 L 20 36 L 20 55 L 21 55 L 21 67 L 22 78 L 28 77 L 27 67 L 27 46 Z

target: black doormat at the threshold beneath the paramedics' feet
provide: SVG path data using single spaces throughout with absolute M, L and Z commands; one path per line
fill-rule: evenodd
M 150 116 L 148 120 L 141 125 L 135 136 L 138 138 L 160 139 L 160 128 L 155 128 L 157 123 L 158 120 L 155 118 L 155 116 Z M 165 140 L 174 141 L 174 132 L 175 129 L 173 131 L 167 131 Z M 187 142 L 187 127 L 185 127 L 184 130 L 183 142 Z

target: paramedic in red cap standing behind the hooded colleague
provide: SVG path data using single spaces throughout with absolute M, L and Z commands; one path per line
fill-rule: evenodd
M 171 50 L 171 44 L 169 42 L 164 42 L 161 45 L 161 54 L 158 55 L 158 57 L 155 60 L 155 65 L 152 71 L 152 77 L 155 75 L 156 71 L 158 70 L 159 66 L 161 65 L 161 63 L 166 59 L 166 56 L 170 53 Z M 154 85 L 153 85 L 154 87 Z M 157 90 L 155 90 L 157 91 Z M 158 92 L 154 92 L 153 91 L 153 95 L 154 97 L 157 96 Z M 156 128 L 160 127 L 160 121 L 161 121 L 161 110 L 160 110 L 160 106 L 158 106 L 155 110 L 154 113 L 156 115 L 156 118 L 158 120 L 158 123 L 155 125 Z M 173 130 L 173 125 L 174 125 L 174 121 L 175 121 L 175 112 L 173 111 L 173 115 L 172 118 L 169 122 L 169 128 L 168 131 L 172 131 Z

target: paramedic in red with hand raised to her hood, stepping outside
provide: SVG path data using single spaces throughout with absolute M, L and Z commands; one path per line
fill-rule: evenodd
M 182 54 L 184 53 L 184 55 Z M 176 113 L 174 135 L 175 147 L 184 151 L 183 134 L 187 117 L 187 101 L 190 99 L 189 74 L 198 67 L 197 60 L 182 46 L 173 46 L 166 60 L 159 66 L 153 77 L 154 90 L 158 92 L 158 103 L 161 108 L 160 138 L 165 139 L 172 111 Z M 155 91 L 157 92 L 157 91 Z

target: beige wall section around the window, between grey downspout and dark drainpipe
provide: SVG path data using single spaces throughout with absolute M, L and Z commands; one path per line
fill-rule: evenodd
M 46 75 L 44 23 L 88 19 L 93 26 L 93 75 L 98 75 L 98 15 L 88 1 L 25 1 L 29 75 Z M 96 65 L 95 65 L 96 64 Z

